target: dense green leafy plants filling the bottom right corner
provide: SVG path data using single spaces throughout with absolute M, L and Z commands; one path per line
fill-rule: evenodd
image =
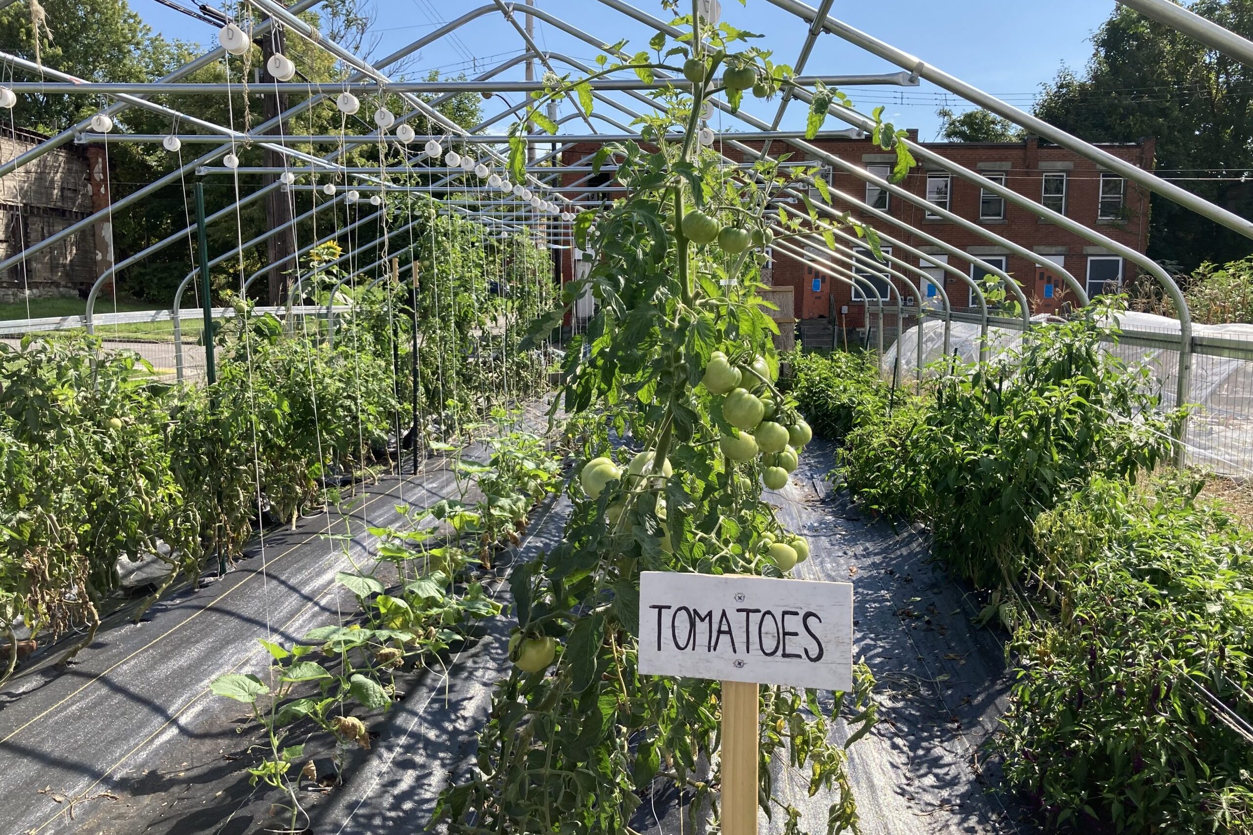
M 1253 534 L 1199 486 L 1099 478 L 1036 519 L 1050 606 L 1014 636 L 999 746 L 1051 822 L 1253 829 Z

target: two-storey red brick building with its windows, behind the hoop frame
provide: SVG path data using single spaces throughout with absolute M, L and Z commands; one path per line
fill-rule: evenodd
M 916 140 L 917 132 L 911 130 L 910 133 L 911 138 Z M 759 142 L 749 140 L 746 144 L 761 147 Z M 819 139 L 813 144 L 832 155 L 885 178 L 895 162 L 895 154 L 885 153 L 870 139 Z M 1121 177 L 1101 171 L 1095 163 L 1075 153 L 1044 143 L 1034 137 L 1015 143 L 927 143 L 926 147 L 965 168 L 977 171 L 984 177 L 1005 183 L 1006 187 L 1034 202 L 1044 203 L 1084 226 L 1099 229 L 1138 252 L 1144 252 L 1148 247 L 1148 192 L 1128 183 Z M 1152 139 L 1135 144 L 1101 147 L 1140 168 L 1153 168 L 1154 142 Z M 783 148 L 782 143 L 776 142 L 772 153 L 782 153 Z M 574 164 L 594 149 L 594 145 L 586 145 L 569 150 L 565 154 L 565 162 Z M 803 160 L 801 153 L 791 148 L 787 150 L 792 153 L 788 162 Z M 725 153 L 728 157 L 738 157 L 730 150 Z M 821 164 L 821 162 L 816 160 L 814 164 Z M 852 174 L 840 171 L 831 173 L 826 167 L 824 173 L 832 188 L 883 209 L 962 252 L 977 256 L 982 261 L 1005 270 L 1022 286 L 1024 295 L 1031 303 L 1032 313 L 1055 312 L 1065 302 L 1074 301 L 1073 293 L 1066 292 L 1061 280 L 1049 268 L 1014 256 L 976 232 L 933 217 L 925 207 L 890 196 Z M 574 182 L 584 176 L 581 173 L 566 174 L 564 182 Z M 901 183 L 901 187 L 1039 253 L 1045 261 L 1063 266 L 1075 278 L 1085 283 L 1088 293 L 1091 296 L 1114 291 L 1130 277 L 1128 275 L 1129 266 L 1124 265 L 1123 258 L 1110 251 L 1093 246 L 1086 239 L 1042 221 L 1026 209 L 1009 204 L 995 194 L 985 194 L 981 188 L 972 183 L 950 177 L 941 171 L 930 169 L 926 164 L 920 163 Z M 816 189 L 811 194 L 814 199 L 819 199 Z M 794 202 L 797 208 L 803 209 L 798 199 Z M 858 219 L 870 219 L 857 212 L 856 204 L 837 199 L 834 208 L 838 211 L 850 209 Z M 933 255 L 942 262 L 951 263 L 976 280 L 984 278 L 982 271 L 976 270 L 974 265 L 944 255 L 937 247 L 916 238 L 911 232 L 881 221 L 872 221 L 871 224 L 882 228 L 903 243 Z M 944 290 L 955 310 L 974 306 L 975 302 L 969 287 L 951 273 L 945 273 L 921 260 L 911 258 L 903 252 L 893 252 L 892 255 L 917 263 L 937 282 L 942 281 Z M 875 276 L 868 267 L 853 267 L 851 261 L 838 257 L 829 260 L 855 268 L 856 272 L 875 280 L 877 283 L 886 280 L 886 275 Z M 861 292 L 855 291 L 847 283 L 833 281 L 821 267 L 802 263 L 782 252 L 772 253 L 769 267 L 766 277 L 771 283 L 777 287 L 791 286 L 794 288 L 796 315 L 802 322 L 821 320 L 842 328 L 858 330 L 865 327 L 866 301 Z M 568 278 L 568 263 L 564 265 L 563 272 L 564 277 Z M 941 278 L 941 276 L 944 277 Z M 937 295 L 933 287 L 925 287 L 925 292 L 931 302 L 936 301 Z M 916 295 L 916 290 L 902 287 L 902 296 L 906 300 Z

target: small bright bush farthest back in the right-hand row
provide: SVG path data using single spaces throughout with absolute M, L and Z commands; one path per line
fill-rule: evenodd
M 819 438 L 843 441 L 862 420 L 887 409 L 888 386 L 870 354 L 789 354 L 781 381 Z

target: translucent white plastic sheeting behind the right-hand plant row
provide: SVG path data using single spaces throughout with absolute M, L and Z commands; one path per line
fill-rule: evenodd
M 1144 347 L 1134 344 L 1135 336 L 1179 339 L 1179 320 L 1134 311 L 1110 317 L 1124 332 L 1124 339 L 1106 345 L 1106 350 L 1128 364 L 1145 365 L 1162 397 L 1163 409 L 1173 409 L 1178 391 L 1179 351 Z M 1044 322 L 1046 316 L 1032 317 Z M 979 360 L 980 328 L 970 322 L 949 325 L 949 356 L 961 362 Z M 927 365 L 941 359 L 944 352 L 945 322 L 922 322 L 922 362 Z M 1253 355 L 1253 325 L 1193 325 L 1198 337 L 1220 337 L 1247 342 Z M 989 327 L 989 356 L 995 357 L 1017 347 L 1021 331 Z M 898 342 L 901 349 L 901 377 L 907 380 L 918 367 L 918 328 L 911 327 Z M 883 352 L 881 367 L 891 375 L 896 362 L 897 345 Z M 1188 421 L 1188 463 L 1195 466 L 1235 478 L 1253 475 L 1253 361 L 1194 352 L 1188 402 L 1195 410 Z M 923 371 L 927 374 L 927 371 Z

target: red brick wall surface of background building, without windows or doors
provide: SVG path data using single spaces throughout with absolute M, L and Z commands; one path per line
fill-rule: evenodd
M 912 132 L 911 132 L 912 133 Z M 749 143 L 759 147 L 759 143 Z M 868 139 L 831 139 L 813 143 L 855 165 L 865 167 L 875 162 L 883 162 L 885 152 Z M 1041 145 L 1036 139 L 1027 139 L 1020 143 L 930 143 L 937 153 L 949 159 L 980 173 L 991 171 L 1006 174 L 1006 186 L 1034 202 L 1040 202 L 1042 194 L 1042 176 L 1045 171 L 1064 172 L 1066 174 L 1066 216 L 1079 223 L 1099 229 L 1101 233 L 1123 243 L 1138 252 L 1144 252 L 1148 247 L 1149 228 L 1149 203 L 1148 193 L 1131 183 L 1125 184 L 1124 213 L 1120 221 L 1099 221 L 1098 201 L 1100 193 L 1100 168 L 1078 154 L 1054 145 Z M 1153 168 L 1154 143 L 1146 140 L 1131 145 L 1104 145 L 1104 149 L 1121 159 L 1145 169 Z M 575 164 L 581 157 L 593 153 L 595 145 L 586 145 L 565 152 L 564 162 Z M 803 157 L 782 142 L 774 142 L 771 152 L 773 154 L 791 150 L 788 162 L 802 160 Z M 732 149 L 724 152 L 728 157 L 739 157 Z M 901 184 L 902 188 L 926 196 L 928 167 L 920 163 Z M 569 173 L 563 177 L 563 183 L 573 183 L 586 176 L 586 172 Z M 856 201 L 865 201 L 866 184 L 852 174 L 836 172 L 831 178 L 833 189 L 847 193 Z M 1109 255 L 1103 248 L 1091 244 L 1078 234 L 1071 234 L 1061 228 L 1039 219 L 1026 209 L 1012 204 L 1005 206 L 1005 218 L 999 221 L 981 221 L 980 201 L 981 189 L 957 177 L 951 179 L 950 211 L 955 214 L 975 222 L 981 228 L 986 228 L 1001 237 L 1009 238 L 1026 249 L 1040 255 L 1061 256 L 1064 266 L 1079 281 L 1084 283 L 1088 275 L 1088 261 L 1093 256 Z M 569 192 L 571 196 L 574 191 Z M 610 193 L 609 197 L 620 196 Z M 852 209 L 858 217 L 856 204 L 833 199 L 834 208 L 840 211 Z M 803 208 L 797 203 L 797 208 Z M 1007 256 L 1006 271 L 1022 286 L 1024 295 L 1031 303 L 1032 312 L 1054 312 L 1064 302 L 1074 301 L 1073 293 L 1065 291 L 1060 277 L 1050 276 L 1051 271 L 1041 268 L 1039 265 L 1009 255 L 1002 247 L 981 237 L 976 232 L 966 231 L 955 223 L 942 219 L 928 219 L 921 206 L 907 203 L 895 196 L 890 199 L 888 212 L 911 226 L 925 231 L 945 241 L 946 243 L 977 256 L 1001 253 Z M 938 249 L 930 246 L 910 232 L 900 227 L 890 226 L 880 221 L 872 223 L 877 228 L 902 242 L 923 249 L 930 253 L 938 253 Z M 908 257 L 902 251 L 893 252 L 897 257 L 918 265 L 916 257 Z M 971 272 L 971 265 L 956 257 L 949 257 L 949 262 L 966 275 Z M 921 266 L 921 265 L 920 265 Z M 569 278 L 569 260 L 563 258 L 563 280 Z M 1134 265 L 1124 265 L 1124 280 L 1130 277 Z M 907 273 L 908 275 L 908 273 Z M 821 290 L 814 292 L 813 280 L 821 278 Z M 823 318 L 834 312 L 840 313 L 841 306 L 848 306 L 848 313 L 843 317 L 842 325 L 848 327 L 861 327 L 865 323 L 865 303 L 852 300 L 852 290 L 847 285 L 832 281 L 829 276 L 821 271 L 821 267 L 807 266 L 801 261 L 779 252 L 774 253 L 773 283 L 777 286 L 791 285 L 796 288 L 797 316 L 799 318 Z M 1045 287 L 1053 283 L 1054 296 L 1046 297 Z M 955 308 L 965 308 L 969 305 L 969 290 L 957 277 L 946 275 L 945 291 Z M 916 295 L 905 288 L 906 297 Z

